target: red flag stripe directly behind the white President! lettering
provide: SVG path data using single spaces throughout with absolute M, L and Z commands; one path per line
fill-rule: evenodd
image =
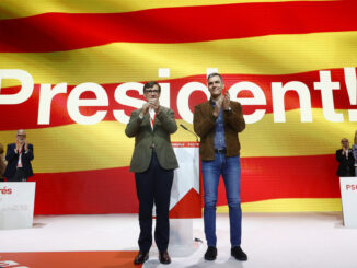
M 346 85 L 344 82 L 344 71 L 343 69 L 335 69 L 331 71 L 332 81 L 339 82 L 341 90 L 333 91 L 334 96 L 334 105 L 336 109 L 355 109 L 354 105 L 350 105 L 348 93 L 346 90 Z M 241 81 L 250 81 L 256 83 L 263 90 L 267 105 L 261 106 L 243 106 L 244 114 L 251 114 L 256 108 L 265 108 L 266 113 L 273 113 L 273 101 L 272 101 L 272 82 L 283 82 L 283 84 L 289 81 L 301 81 L 307 84 L 310 89 L 311 95 L 311 106 L 314 108 L 321 108 L 321 91 L 314 90 L 313 82 L 320 81 L 319 71 L 311 71 L 306 73 L 297 73 L 297 74 L 287 74 L 287 75 L 252 75 L 252 74 L 224 74 L 223 75 L 226 88 L 229 89 L 232 84 Z M 194 75 L 182 79 L 172 79 L 165 80 L 163 82 L 170 83 L 171 90 L 171 108 L 175 112 L 176 119 L 180 119 L 181 116 L 177 110 L 177 94 L 181 88 L 188 82 L 201 82 L 206 83 L 206 75 Z M 97 109 L 108 110 L 104 120 L 114 121 L 115 118 L 113 116 L 113 112 L 115 109 L 124 109 L 126 115 L 130 115 L 134 110 L 133 107 L 128 107 L 122 104 L 118 104 L 114 100 L 114 92 L 118 84 L 104 84 L 104 89 L 108 95 L 110 105 L 108 107 L 81 107 L 81 113 L 83 115 L 92 115 Z M 73 86 L 68 86 L 67 94 L 58 94 L 54 97 L 51 103 L 51 114 L 50 114 L 50 125 L 49 126 L 62 126 L 68 124 L 73 124 L 72 119 L 69 117 L 67 112 L 67 98 L 70 91 Z M 19 91 L 16 89 L 1 89 L 1 94 L 13 94 Z M 128 95 L 136 98 L 143 100 L 143 96 L 139 95 L 136 91 L 129 91 Z M 239 97 L 251 97 L 252 94 L 249 91 L 243 91 L 239 94 Z M 82 97 L 90 98 L 92 97 L 92 93 L 84 93 Z M 34 92 L 26 102 L 18 105 L 0 105 L 0 114 L 7 115 L 1 118 L 0 130 L 14 130 L 19 128 L 43 128 L 48 127 L 48 125 L 37 125 L 38 117 L 38 100 L 39 100 L 39 85 L 35 85 Z M 194 92 L 188 100 L 191 110 L 194 110 L 194 106 L 198 103 L 201 103 L 206 100 L 206 95 L 200 92 Z M 285 95 L 285 106 L 286 110 L 297 109 L 300 107 L 298 94 L 296 92 L 287 92 Z M 24 113 L 26 116 L 24 116 Z M 16 118 L 16 120 L 13 120 Z

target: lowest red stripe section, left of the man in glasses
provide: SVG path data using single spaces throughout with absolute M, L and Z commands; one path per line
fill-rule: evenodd
M 134 213 L 138 210 L 128 167 L 42 173 L 36 180 L 35 214 Z

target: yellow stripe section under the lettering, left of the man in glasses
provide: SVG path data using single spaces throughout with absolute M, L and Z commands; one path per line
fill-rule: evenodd
M 28 129 L 27 140 L 34 144 L 35 173 L 90 171 L 128 166 L 134 139 L 127 139 L 125 125 L 103 121 L 97 125 L 68 125 Z M 1 131 L 4 144 L 14 142 L 15 131 Z

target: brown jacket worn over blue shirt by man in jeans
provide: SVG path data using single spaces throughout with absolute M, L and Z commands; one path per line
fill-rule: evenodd
M 227 156 L 240 154 L 241 144 L 238 133 L 245 128 L 241 104 L 230 102 L 231 110 L 223 112 Z M 211 101 L 198 104 L 194 112 L 194 130 L 200 137 L 200 158 L 209 161 L 215 159 L 215 124 Z

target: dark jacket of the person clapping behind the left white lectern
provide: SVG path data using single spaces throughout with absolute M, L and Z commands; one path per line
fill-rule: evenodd
M 5 178 L 11 178 L 16 173 L 19 153 L 15 153 L 15 148 L 16 148 L 15 143 L 8 144 L 7 156 L 5 156 L 8 161 L 8 166 L 5 173 L 3 174 Z M 33 159 L 34 159 L 34 147 L 32 144 L 28 144 L 28 152 L 27 153 L 23 152 L 21 154 L 22 167 L 24 170 L 24 174 L 26 178 L 34 175 L 31 165 L 31 161 Z

